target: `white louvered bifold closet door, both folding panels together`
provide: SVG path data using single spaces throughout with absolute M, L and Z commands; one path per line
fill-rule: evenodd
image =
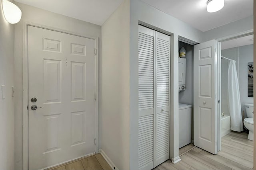
M 170 36 L 139 25 L 138 169 L 169 159 Z

